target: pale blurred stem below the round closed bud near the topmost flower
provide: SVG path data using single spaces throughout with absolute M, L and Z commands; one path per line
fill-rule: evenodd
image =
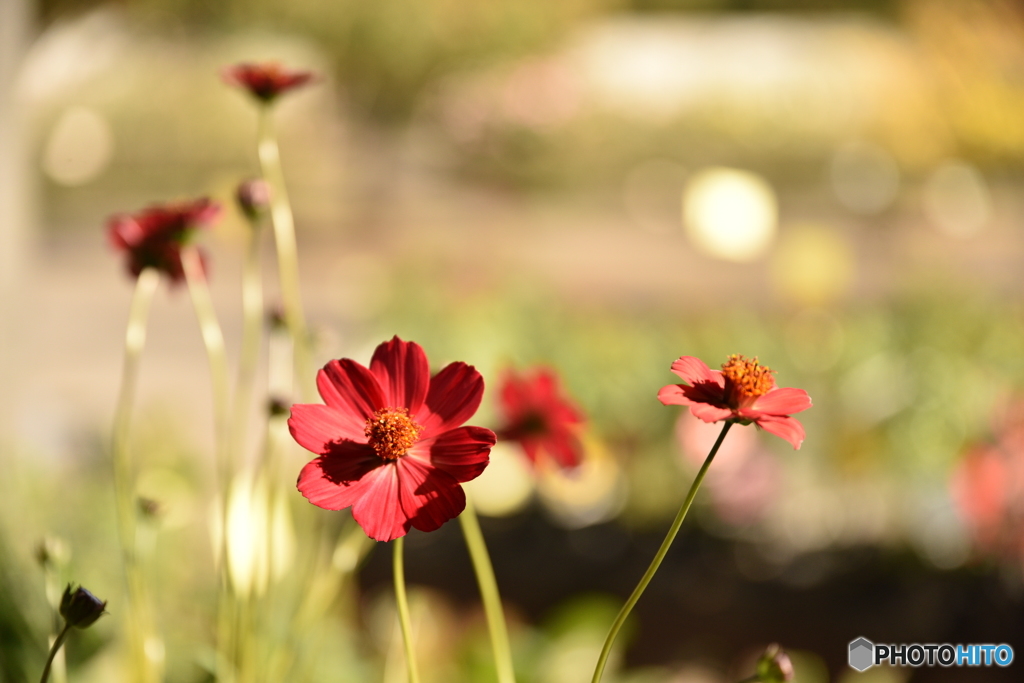
M 242 266 L 242 349 L 239 354 L 239 376 L 234 390 L 234 418 L 231 433 L 231 453 L 242 457 L 246 453 L 249 411 L 252 408 L 253 387 L 256 384 L 256 365 L 259 360 L 261 332 L 263 330 L 263 280 L 260 258 L 260 221 L 250 224 L 249 245 Z

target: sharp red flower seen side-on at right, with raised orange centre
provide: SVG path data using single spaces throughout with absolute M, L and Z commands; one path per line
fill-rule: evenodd
M 657 399 L 665 405 L 689 405 L 690 413 L 705 422 L 753 422 L 794 449 L 803 443 L 804 426 L 790 416 L 809 409 L 811 397 L 803 389 L 776 387 L 774 371 L 756 357 L 730 355 L 719 372 L 684 355 L 672 364 L 672 372 L 686 384 L 662 387 Z

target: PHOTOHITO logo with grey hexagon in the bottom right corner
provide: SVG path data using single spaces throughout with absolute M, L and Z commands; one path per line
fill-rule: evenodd
M 1014 648 L 999 645 L 951 645 L 949 643 L 910 643 L 882 645 L 867 638 L 850 641 L 850 667 L 865 671 L 876 665 L 899 667 L 1009 667 Z

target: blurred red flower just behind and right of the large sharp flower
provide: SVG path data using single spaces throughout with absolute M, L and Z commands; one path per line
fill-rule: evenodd
M 503 439 L 518 441 L 531 463 L 543 452 L 562 468 L 577 467 L 583 460 L 579 426 L 580 410 L 559 387 L 558 376 L 548 368 L 531 375 L 508 372 L 501 389 L 501 411 L 506 426 Z

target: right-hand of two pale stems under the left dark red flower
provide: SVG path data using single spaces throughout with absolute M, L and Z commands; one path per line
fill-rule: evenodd
M 221 658 L 218 660 L 217 680 L 232 681 L 234 679 L 236 634 L 238 622 L 234 616 L 236 604 L 228 591 L 228 559 L 227 559 L 227 502 L 231 485 L 232 458 L 230 454 L 230 435 L 228 432 L 228 376 L 227 357 L 224 351 L 224 336 L 217 322 L 217 312 L 213 307 L 213 297 L 207 284 L 203 262 L 195 247 L 184 247 L 181 250 L 181 266 L 188 283 L 188 293 L 191 296 L 193 308 L 199 321 L 200 336 L 206 348 L 207 360 L 210 365 L 210 380 L 213 385 L 213 423 L 214 442 L 216 451 L 217 479 L 219 484 L 217 518 L 220 524 L 220 581 L 221 591 L 218 604 L 218 647 Z M 224 667 L 229 667 L 224 671 Z

